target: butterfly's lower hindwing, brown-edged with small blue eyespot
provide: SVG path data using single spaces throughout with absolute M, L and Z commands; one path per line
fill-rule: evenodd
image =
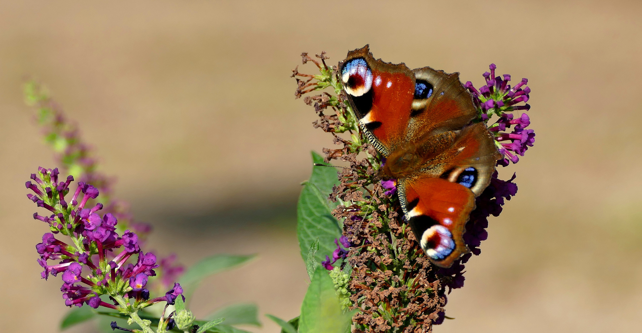
M 494 136 L 484 123 L 476 123 L 465 127 L 453 146 L 437 159 L 444 163 L 442 177 L 470 188 L 478 197 L 489 185 L 499 158 Z

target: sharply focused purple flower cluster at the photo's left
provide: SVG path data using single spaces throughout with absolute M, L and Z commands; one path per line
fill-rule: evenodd
M 60 291 L 65 305 L 82 307 L 87 303 L 94 308 L 103 306 L 121 310 L 120 307 L 128 305 L 125 301 L 128 298 L 134 298 L 134 304 L 138 307 L 162 301 L 173 303 L 182 293 L 179 284 L 175 284 L 165 296 L 149 300 L 150 291 L 145 286 L 148 278 L 156 275 L 154 269 L 159 265 L 153 253 L 141 251 L 138 236 L 130 230 L 119 235 L 116 232 L 116 217 L 112 213 L 102 217 L 97 213 L 103 204 L 85 208 L 89 199 L 98 197 L 98 189 L 78 182 L 67 203 L 65 197 L 74 179 L 69 176 L 66 181 L 58 183 L 58 174 L 57 168 L 39 168 L 38 174 L 31 175 L 35 184 L 28 181 L 26 187 L 35 193 L 27 197 L 51 212 L 49 216 L 33 215 L 34 219 L 46 222 L 51 230 L 51 233 L 43 235 L 36 250 L 40 255 L 38 262 L 44 268 L 42 278 L 62 273 L 64 284 Z M 70 237 L 72 242 L 67 244 L 56 239 L 55 234 L 58 233 Z M 114 249 L 122 251 L 114 255 Z M 128 264 L 130 257 L 135 254 L 138 254 L 137 262 Z M 57 263 L 50 265 L 48 260 Z M 83 274 L 83 270 L 87 272 Z M 168 276 L 177 276 L 177 271 Z M 109 296 L 114 304 L 103 302 L 102 295 Z

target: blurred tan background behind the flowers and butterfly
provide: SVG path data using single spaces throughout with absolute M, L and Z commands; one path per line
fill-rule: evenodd
M 498 74 L 532 88 L 535 147 L 519 193 L 435 332 L 634 332 L 642 323 L 642 3 L 639 1 L 1 1 L 0 327 L 57 332 L 60 279 L 40 280 L 44 224 L 24 195 L 54 167 L 22 102 L 48 85 L 94 145 L 116 195 L 155 227 L 151 248 L 192 264 L 258 253 L 209 278 L 198 316 L 233 302 L 299 314 L 306 273 L 295 203 L 309 150 L 331 147 L 294 100 L 301 51 Z M 311 65 L 301 66 L 313 71 Z M 265 317 L 261 329 L 278 332 Z M 28 323 L 24 329 L 21 323 Z M 70 332 L 92 332 L 92 325 Z

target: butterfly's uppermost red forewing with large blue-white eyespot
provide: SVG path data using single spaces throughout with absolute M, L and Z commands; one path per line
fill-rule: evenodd
M 388 156 L 405 141 L 415 75 L 405 64 L 375 59 L 367 45 L 348 53 L 339 75 L 361 128 L 376 149 Z

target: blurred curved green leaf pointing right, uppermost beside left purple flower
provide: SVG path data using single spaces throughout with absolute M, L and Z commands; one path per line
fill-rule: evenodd
M 187 272 L 180 278 L 179 283 L 183 287 L 184 295 L 191 296 L 198 284 L 206 276 L 220 273 L 226 269 L 239 266 L 248 260 L 256 257 L 255 255 L 213 255 L 204 258 L 189 267 Z

